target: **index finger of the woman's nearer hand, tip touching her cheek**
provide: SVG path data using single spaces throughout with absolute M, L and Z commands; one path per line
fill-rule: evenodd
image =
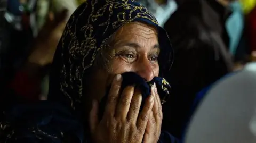
M 106 109 L 103 117 L 110 117 L 110 116 L 114 117 L 115 111 L 116 111 L 116 105 L 118 103 L 118 96 L 121 88 L 121 83 L 122 83 L 122 75 L 117 74 L 114 81 L 112 82 L 112 85 L 109 91 L 108 100 L 106 103 Z

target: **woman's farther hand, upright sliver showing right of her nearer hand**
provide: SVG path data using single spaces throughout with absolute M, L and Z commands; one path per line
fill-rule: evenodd
M 154 97 L 154 106 L 150 113 L 150 118 L 146 127 L 143 142 L 157 142 L 161 134 L 161 125 L 163 120 L 162 105 L 157 93 L 156 85 L 151 88 L 151 94 Z

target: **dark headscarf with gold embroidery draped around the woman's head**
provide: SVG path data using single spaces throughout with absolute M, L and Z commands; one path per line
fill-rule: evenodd
M 60 39 L 50 74 L 49 100 L 80 108 L 85 77 L 97 53 L 120 27 L 135 21 L 158 29 L 158 62 L 163 75 L 171 66 L 172 48 L 167 33 L 146 7 L 134 0 L 89 0 L 71 15 Z

